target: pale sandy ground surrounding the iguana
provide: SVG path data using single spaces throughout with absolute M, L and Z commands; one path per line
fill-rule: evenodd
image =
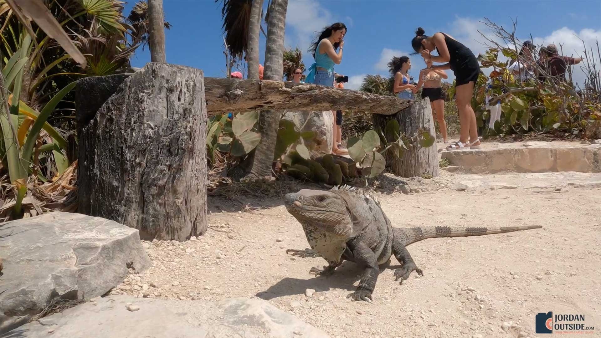
M 182 300 L 258 297 L 332 337 L 545 337 L 551 335 L 534 333 L 535 315 L 549 311 L 585 315 L 594 332 L 578 336 L 600 337 L 601 189 L 532 185 L 532 176 L 516 174 L 506 176 L 505 187 L 453 188 L 468 177 L 446 173 L 432 180 L 438 190 L 377 197 L 397 227 L 543 229 L 417 242 L 407 248 L 424 277 L 413 272 L 400 286 L 393 258 L 381 269 L 373 302 L 352 302 L 346 295 L 358 284 L 356 265 L 346 262 L 331 277 L 309 274 L 325 260 L 285 253 L 308 247 L 300 224 L 278 200 L 255 201 L 271 207 L 213 212 L 206 235 L 192 241 L 144 242 L 153 266 L 119 288 Z M 546 180 L 553 174 L 538 177 Z M 212 201 L 213 210 L 218 204 Z M 307 289 L 316 292 L 308 297 Z

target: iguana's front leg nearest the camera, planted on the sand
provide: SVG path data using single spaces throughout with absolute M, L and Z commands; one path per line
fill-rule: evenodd
M 349 260 L 361 266 L 363 273 L 355 292 L 350 293 L 346 298 L 350 298 L 353 301 L 362 300 L 371 302 L 371 293 L 376 288 L 377 275 L 380 273 L 376 254 L 371 251 L 370 247 L 359 242 L 357 239 L 347 242 L 347 249 L 348 251 L 345 251 L 345 256 L 350 251 L 352 257 L 349 257 Z

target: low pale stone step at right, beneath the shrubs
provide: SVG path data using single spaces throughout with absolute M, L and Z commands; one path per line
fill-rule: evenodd
M 478 150 L 444 151 L 440 156 L 450 164 L 447 171 L 465 174 L 559 171 L 601 173 L 601 144 L 597 143 L 483 142 Z

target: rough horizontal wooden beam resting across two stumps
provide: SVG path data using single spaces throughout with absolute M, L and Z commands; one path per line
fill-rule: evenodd
M 204 78 L 207 115 L 261 109 L 309 111 L 353 109 L 392 115 L 412 100 L 364 91 L 271 80 Z

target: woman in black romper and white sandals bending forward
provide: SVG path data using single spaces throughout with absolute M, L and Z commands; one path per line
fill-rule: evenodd
M 427 68 L 427 70 L 451 69 L 455 74 L 455 94 L 457 110 L 459 110 L 459 142 L 447 147 L 447 150 L 480 147 L 476 115 L 470 104 L 474 85 L 480 75 L 480 64 L 474 53 L 453 37 L 437 32 L 431 37 L 424 34 L 424 29 L 419 27 L 416 36 L 411 41 L 416 54 L 419 53 L 426 62 L 445 63 Z M 436 49 L 439 55 L 430 55 Z

